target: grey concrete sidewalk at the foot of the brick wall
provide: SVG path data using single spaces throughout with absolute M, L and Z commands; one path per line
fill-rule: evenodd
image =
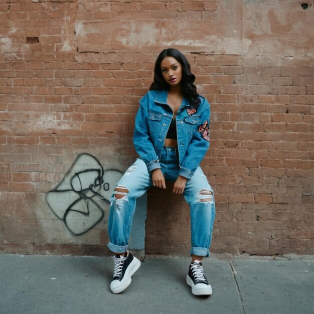
M 146 257 L 120 294 L 110 292 L 112 257 L 0 254 L 0 313 L 313 314 L 314 259 L 204 261 L 213 286 L 197 297 L 189 258 Z

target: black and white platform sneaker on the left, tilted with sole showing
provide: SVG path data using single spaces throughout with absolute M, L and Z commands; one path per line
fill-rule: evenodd
M 115 255 L 113 260 L 114 271 L 110 289 L 113 293 L 120 293 L 131 283 L 131 276 L 139 268 L 140 261 L 130 252 L 127 257 Z

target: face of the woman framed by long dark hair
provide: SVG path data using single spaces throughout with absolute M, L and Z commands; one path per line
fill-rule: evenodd
M 182 80 L 182 66 L 176 58 L 166 57 L 161 62 L 161 69 L 165 81 L 170 86 L 176 86 L 180 84 Z

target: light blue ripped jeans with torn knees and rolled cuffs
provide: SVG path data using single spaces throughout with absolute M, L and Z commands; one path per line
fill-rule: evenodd
M 164 147 L 160 165 L 165 180 L 176 181 L 180 171 L 177 148 Z M 127 251 L 136 199 L 151 186 L 151 174 L 146 164 L 138 158 L 116 185 L 120 192 L 114 191 L 111 197 L 108 248 L 112 252 Z M 215 201 L 213 190 L 200 167 L 187 180 L 184 197 L 190 205 L 191 214 L 190 254 L 207 257 L 215 219 Z

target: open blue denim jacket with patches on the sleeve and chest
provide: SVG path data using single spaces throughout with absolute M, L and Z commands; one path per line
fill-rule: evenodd
M 173 118 L 167 95 L 166 90 L 147 92 L 139 100 L 135 117 L 134 146 L 149 172 L 161 168 L 159 160 Z M 179 175 L 187 179 L 192 178 L 210 145 L 210 105 L 203 96 L 199 97 L 201 102 L 197 109 L 184 98 L 176 116 Z

